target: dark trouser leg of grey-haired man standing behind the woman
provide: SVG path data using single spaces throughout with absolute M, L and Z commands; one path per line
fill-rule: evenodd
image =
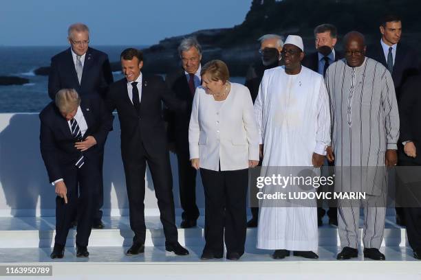
M 188 135 L 188 132 L 186 135 Z M 182 218 L 197 220 L 199 218 L 199 209 L 196 205 L 196 170 L 191 167 L 188 137 L 175 140 L 175 152 L 178 163 L 180 202 L 183 209 Z

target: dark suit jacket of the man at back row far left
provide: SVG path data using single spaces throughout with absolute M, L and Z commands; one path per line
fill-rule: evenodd
M 57 91 L 61 89 L 76 89 L 80 97 L 97 95 L 105 97 L 113 75 L 107 54 L 88 48 L 83 64 L 80 84 L 74 67 L 71 49 L 56 54 L 51 59 L 50 75 L 48 77 L 48 95 L 54 100 Z

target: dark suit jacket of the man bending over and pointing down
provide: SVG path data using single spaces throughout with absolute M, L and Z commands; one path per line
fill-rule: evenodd
M 83 97 L 80 103 L 88 129 L 84 138 L 89 135 L 96 139 L 97 144 L 83 152 L 89 162 L 98 162 L 100 150 L 112 126 L 112 116 L 98 97 Z M 50 102 L 39 114 L 41 119 L 41 155 L 47 168 L 50 182 L 64 178 L 65 166 L 74 165 L 80 157 L 80 151 L 74 148 L 74 137 L 70 132 L 67 120 Z M 97 163 L 98 164 L 98 163 Z

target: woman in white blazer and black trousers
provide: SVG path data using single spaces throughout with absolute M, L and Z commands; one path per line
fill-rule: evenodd
M 226 258 L 236 260 L 246 242 L 248 167 L 259 163 L 253 104 L 246 86 L 228 82 L 228 67 L 221 60 L 206 63 L 200 75 L 188 143 L 205 194 L 206 245 L 201 258 L 222 258 L 225 237 Z

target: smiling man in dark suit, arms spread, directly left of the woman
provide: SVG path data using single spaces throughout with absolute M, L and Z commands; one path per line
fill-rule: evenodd
M 171 95 L 159 76 L 142 75 L 141 51 L 125 49 L 120 58 L 125 78 L 111 84 L 107 104 L 111 112 L 117 109 L 120 120 L 121 155 L 129 197 L 130 226 L 135 234 L 133 245 L 126 254 L 144 253 L 144 175 L 148 163 L 164 226 L 165 249 L 176 255 L 188 255 L 188 250 L 177 242 L 173 177 L 162 119 L 162 101 L 172 110 L 185 110 L 186 104 Z

